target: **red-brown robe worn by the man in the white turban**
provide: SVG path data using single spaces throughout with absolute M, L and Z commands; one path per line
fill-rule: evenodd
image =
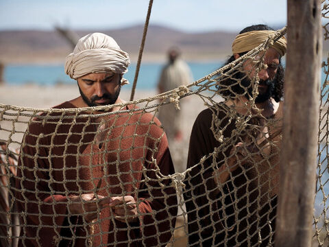
M 64 102 L 56 108 L 75 106 Z M 173 174 L 174 168 L 158 119 L 143 110 L 103 116 L 106 138 L 96 143 L 99 123 L 88 115 L 74 115 L 43 114 L 47 121 L 37 117 L 29 124 L 16 179 L 24 224 L 19 246 L 85 246 L 90 229 L 81 216 L 68 217 L 69 196 L 96 192 L 133 196 L 141 220 L 119 222 L 105 207 L 95 224 L 93 246 L 167 244 L 177 198 L 171 180 L 161 178 Z M 101 187 L 95 191 L 100 178 Z

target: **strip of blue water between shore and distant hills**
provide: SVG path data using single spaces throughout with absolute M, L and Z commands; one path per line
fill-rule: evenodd
M 188 65 L 193 73 L 194 80 L 204 77 L 208 73 L 215 71 L 221 66 L 222 62 L 190 62 Z M 158 77 L 163 64 L 148 63 L 141 64 L 138 74 L 137 89 L 156 89 Z M 130 84 L 125 89 L 131 89 L 134 82 L 136 64 L 131 64 L 125 78 Z M 8 84 L 22 85 L 34 83 L 38 85 L 53 86 L 55 84 L 75 84 L 75 80 L 69 78 L 64 73 L 62 65 L 8 65 L 5 67 L 4 80 Z

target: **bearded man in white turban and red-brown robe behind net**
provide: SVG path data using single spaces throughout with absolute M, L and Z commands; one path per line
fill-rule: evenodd
M 80 96 L 54 107 L 70 113 L 42 114 L 25 133 L 16 180 L 20 246 L 165 246 L 171 239 L 177 199 L 164 178 L 174 173 L 167 137 L 156 117 L 122 104 L 129 64 L 101 33 L 82 37 L 66 57 Z

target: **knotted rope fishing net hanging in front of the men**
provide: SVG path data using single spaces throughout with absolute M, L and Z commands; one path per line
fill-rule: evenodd
M 265 51 L 285 32 L 193 84 L 114 112 L 0 104 L 1 246 L 273 246 L 283 103 L 264 116 L 255 99 Z M 246 64 L 255 71 L 249 90 Z M 323 67 L 315 246 L 329 239 L 328 59 Z M 206 109 L 187 168 L 175 173 L 178 150 L 169 152 L 156 116 L 193 95 Z

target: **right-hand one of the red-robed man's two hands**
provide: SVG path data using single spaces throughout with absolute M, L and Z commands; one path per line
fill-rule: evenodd
M 136 201 L 132 196 L 115 196 L 109 206 L 116 220 L 121 222 L 137 222 Z

